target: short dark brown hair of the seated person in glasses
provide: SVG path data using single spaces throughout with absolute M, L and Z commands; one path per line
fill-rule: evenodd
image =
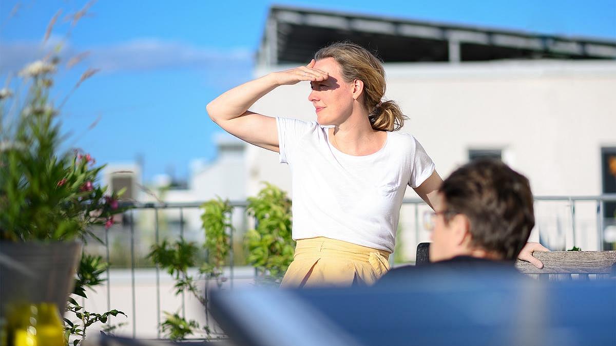
M 529 180 L 497 159 L 476 159 L 456 169 L 439 188 L 445 221 L 463 214 L 471 245 L 515 260 L 535 226 Z

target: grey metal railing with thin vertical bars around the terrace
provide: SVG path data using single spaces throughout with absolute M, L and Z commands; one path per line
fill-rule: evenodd
M 545 201 L 551 201 L 551 202 L 565 202 L 567 203 L 567 208 L 569 209 L 569 213 L 570 213 L 570 220 L 571 220 L 571 229 L 572 229 L 572 237 L 573 237 L 573 244 L 576 243 L 576 239 L 577 235 L 576 235 L 576 203 L 581 203 L 581 202 L 594 202 L 596 203 L 596 229 L 598 231 L 598 234 L 596 235 L 598 238 L 598 249 L 602 249 L 603 247 L 603 231 L 604 231 L 604 217 L 602 215 L 602 212 L 604 211 L 604 207 L 605 207 L 605 203 L 610 203 L 610 202 L 616 202 L 616 193 L 614 194 L 606 194 L 606 195 L 600 195 L 600 196 L 535 196 L 535 203 L 538 202 L 545 202 Z M 160 230 L 159 230 L 159 212 L 161 210 L 163 211 L 168 211 L 169 209 L 178 209 L 179 210 L 179 214 L 180 214 L 180 223 L 179 223 L 179 233 L 180 236 L 184 236 L 184 211 L 185 209 L 197 209 L 201 206 L 201 204 L 203 204 L 203 202 L 191 202 L 191 203 L 125 203 L 124 205 L 129 205 L 132 207 L 131 210 L 129 210 L 128 212 L 126 212 L 126 214 L 124 214 L 124 216 L 126 217 L 126 219 L 128 220 L 128 229 L 130 231 L 130 249 L 131 249 L 131 300 L 132 300 L 132 336 L 136 337 L 136 321 L 137 321 L 137 309 L 136 309 L 136 284 L 135 284 L 135 270 L 136 270 L 136 260 L 135 260 L 135 219 L 134 219 L 134 215 L 135 212 L 138 211 L 143 211 L 143 210 L 153 210 L 154 212 L 154 217 L 155 217 L 155 223 L 154 223 L 154 231 L 155 231 L 155 243 L 159 244 L 160 241 Z M 233 210 L 235 211 L 235 209 L 246 209 L 246 206 L 248 205 L 248 203 L 246 201 L 232 201 L 231 206 L 233 207 Z M 415 239 L 417 241 L 417 243 L 419 243 L 419 239 L 420 239 L 420 235 L 423 230 L 423 227 L 421 227 L 421 223 L 420 223 L 420 217 L 419 217 L 419 209 L 420 207 L 424 207 L 424 208 L 428 208 L 427 204 L 424 203 L 423 200 L 421 199 L 404 199 L 403 200 L 403 207 L 405 206 L 413 206 L 413 218 L 414 218 L 414 231 L 415 231 Z M 403 216 L 403 212 L 401 212 L 401 217 Z M 231 242 L 233 244 L 233 231 L 230 231 L 230 239 Z M 107 262 L 110 261 L 110 249 L 109 249 L 109 231 L 105 230 L 105 255 L 107 257 Z M 230 287 L 233 288 L 233 281 L 236 279 L 236 277 L 234 276 L 233 273 L 233 267 L 234 267 L 234 262 L 233 262 L 233 257 L 234 257 L 234 253 L 233 253 L 233 246 L 230 249 L 230 260 L 229 260 L 229 284 Z M 391 259 L 394 258 L 394 256 L 390 256 Z M 161 323 L 161 306 L 160 306 L 160 302 L 161 302 L 161 294 L 160 294 L 160 268 L 158 267 L 158 265 L 156 265 L 156 329 L 157 329 L 157 336 L 158 338 L 160 338 L 160 323 Z M 107 309 L 110 310 L 111 309 L 111 294 L 110 294 L 110 268 L 107 268 Z M 184 292 L 182 292 L 182 299 L 181 299 L 181 310 L 182 310 L 182 316 L 185 316 L 185 295 Z

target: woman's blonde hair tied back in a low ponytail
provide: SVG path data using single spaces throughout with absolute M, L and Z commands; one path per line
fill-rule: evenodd
M 394 101 L 381 101 L 385 95 L 385 70 L 373 54 L 359 44 L 336 42 L 319 49 L 315 60 L 334 58 L 340 65 L 344 81 L 359 79 L 363 82 L 363 106 L 368 110 L 372 128 L 379 131 L 397 131 L 406 116 Z

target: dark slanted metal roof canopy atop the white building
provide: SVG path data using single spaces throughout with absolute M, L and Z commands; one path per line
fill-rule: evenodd
M 319 48 L 345 40 L 384 62 L 616 59 L 616 41 L 607 39 L 272 6 L 257 60 L 262 65 L 305 63 Z

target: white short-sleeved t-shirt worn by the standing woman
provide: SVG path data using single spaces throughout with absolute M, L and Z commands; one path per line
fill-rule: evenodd
M 315 121 L 276 123 L 280 163 L 291 168 L 293 239 L 324 236 L 393 252 L 407 185 L 418 187 L 434 172 L 415 137 L 387 132 L 379 151 L 352 156 Z

